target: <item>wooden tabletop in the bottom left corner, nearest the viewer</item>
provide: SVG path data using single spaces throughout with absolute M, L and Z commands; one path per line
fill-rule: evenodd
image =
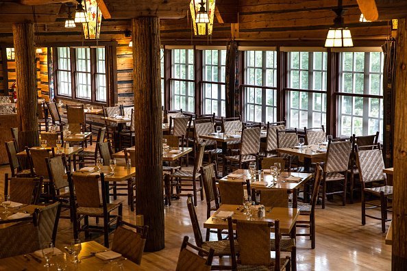
M 77 271 L 90 271 L 90 270 L 120 270 L 119 264 L 123 266 L 123 270 L 148 270 L 147 268 L 143 268 L 143 266 L 138 266 L 136 263 L 126 259 L 125 257 L 121 256 L 117 259 L 109 260 L 102 260 L 98 257 L 86 257 L 81 259 L 82 257 L 90 255 L 92 252 L 96 251 L 103 251 L 108 250 L 105 246 L 101 244 L 90 241 L 82 243 L 82 249 L 79 253 L 80 263 L 72 263 L 73 255 L 64 250 L 64 248 L 60 247 L 60 250 L 66 253 L 66 270 L 77 270 Z M 43 271 L 49 270 L 54 271 L 57 270 L 56 268 L 56 257 L 51 257 L 51 263 L 53 266 L 50 268 L 45 268 L 45 259 L 40 259 L 41 262 L 34 261 L 34 259 L 28 258 L 29 261 L 23 255 L 18 255 L 14 257 L 0 259 L 0 270 L 26 270 L 26 271 Z

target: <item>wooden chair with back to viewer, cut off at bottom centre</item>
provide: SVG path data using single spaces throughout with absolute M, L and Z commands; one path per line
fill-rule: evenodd
M 232 223 L 236 224 L 238 260 Z M 290 257 L 280 259 L 280 220 L 266 222 L 227 218 L 227 224 L 233 270 L 291 270 Z M 274 242 L 270 240 L 271 227 L 274 227 Z M 275 251 L 274 259 L 270 257 L 271 250 Z

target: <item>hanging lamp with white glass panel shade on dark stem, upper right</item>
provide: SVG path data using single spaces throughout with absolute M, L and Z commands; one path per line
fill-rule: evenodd
M 354 47 L 350 29 L 343 27 L 343 13 L 345 10 L 342 6 L 342 0 L 338 0 L 338 8 L 334 10 L 336 18 L 334 27 L 330 27 L 325 40 L 325 47 Z

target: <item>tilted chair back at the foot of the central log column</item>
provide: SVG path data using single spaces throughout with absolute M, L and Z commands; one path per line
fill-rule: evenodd
M 143 227 L 136 226 L 124 222 L 121 217 L 117 218 L 112 250 L 140 265 L 148 231 L 149 227 L 147 225 Z

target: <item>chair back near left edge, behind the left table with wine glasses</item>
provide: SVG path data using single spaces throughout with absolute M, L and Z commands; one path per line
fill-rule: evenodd
M 27 205 L 38 204 L 42 186 L 42 177 L 9 178 L 8 173 L 5 173 L 4 181 L 4 194 L 10 196 L 10 201 Z

